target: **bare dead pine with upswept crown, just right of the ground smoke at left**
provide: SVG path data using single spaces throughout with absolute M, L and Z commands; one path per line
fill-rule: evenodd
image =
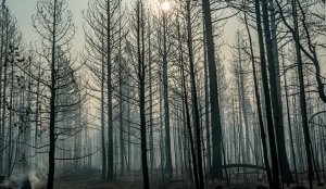
M 47 61 L 47 70 L 50 79 L 42 80 L 50 91 L 50 110 L 49 110 L 49 174 L 47 188 L 53 188 L 54 171 L 55 171 L 55 100 L 57 90 L 60 88 L 58 80 L 58 60 L 64 53 L 68 53 L 72 46 L 76 27 L 73 23 L 73 14 L 67 10 L 65 0 L 39 0 L 36 8 L 37 13 L 33 16 L 33 26 L 39 34 L 41 39 L 41 53 Z M 61 53 L 59 53 L 61 52 Z M 67 73 L 65 73 L 67 74 Z M 67 84 L 65 84 L 67 85 Z

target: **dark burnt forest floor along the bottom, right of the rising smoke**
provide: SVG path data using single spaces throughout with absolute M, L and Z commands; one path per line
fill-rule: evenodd
M 134 174 L 134 175 L 133 175 Z M 127 175 L 127 173 L 126 173 Z M 261 174 L 262 175 L 262 174 Z M 306 175 L 299 176 L 299 186 L 309 186 Z M 267 187 L 268 184 L 266 180 L 256 179 L 256 174 L 248 174 L 248 181 L 243 181 L 243 176 L 236 179 L 236 176 L 233 175 L 230 178 L 230 187 L 227 187 L 225 180 L 221 184 L 215 180 L 213 184 L 211 180 L 205 182 L 206 189 L 215 189 L 216 186 L 223 186 L 224 189 L 255 189 L 259 186 Z M 292 184 L 290 187 L 296 186 Z M 317 182 L 314 182 L 314 186 L 317 186 Z M 151 189 L 195 189 L 193 184 L 189 181 L 184 181 L 180 179 L 180 176 L 177 178 L 175 176 L 174 179 L 171 179 L 170 182 L 165 182 L 162 179 L 161 175 L 152 175 L 150 176 L 150 187 Z M 117 177 L 116 180 L 102 180 L 100 172 L 95 172 L 88 178 L 79 177 L 79 178 L 58 178 L 54 182 L 54 189 L 142 189 L 142 177 L 140 174 L 131 173 L 130 176 Z M 288 188 L 285 184 L 285 188 Z M 326 187 L 314 187 L 315 189 L 326 189 Z

